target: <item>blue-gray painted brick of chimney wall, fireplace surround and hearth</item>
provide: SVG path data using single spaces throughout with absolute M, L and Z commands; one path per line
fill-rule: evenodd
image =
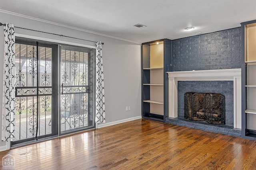
M 169 64 L 170 65 L 170 64 Z M 241 32 L 240 28 L 215 33 L 197 35 L 172 41 L 172 66 L 170 71 L 216 70 L 241 68 Z M 221 93 L 226 99 L 227 127 L 212 126 L 201 122 L 184 121 L 184 93 L 205 92 Z M 167 118 L 168 123 L 189 126 L 196 129 L 241 136 L 241 131 L 229 129 L 233 126 L 233 82 L 232 81 L 179 81 L 178 82 L 178 118 Z M 195 124 L 195 125 L 194 125 Z M 226 126 L 225 125 L 225 126 Z

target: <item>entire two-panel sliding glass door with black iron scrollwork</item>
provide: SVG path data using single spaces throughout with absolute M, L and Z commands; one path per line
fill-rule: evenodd
M 81 131 L 94 123 L 95 49 L 16 39 L 12 145 Z

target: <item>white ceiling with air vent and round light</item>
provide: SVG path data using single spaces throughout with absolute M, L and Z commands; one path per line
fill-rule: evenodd
M 256 0 L 0 0 L 0 10 L 136 43 L 210 33 L 256 20 Z M 134 27 L 137 23 L 147 27 Z M 188 26 L 195 29 L 184 30 Z

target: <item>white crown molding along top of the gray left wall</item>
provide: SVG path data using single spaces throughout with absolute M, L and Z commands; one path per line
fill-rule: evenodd
M 82 29 L 82 28 L 78 28 L 78 27 L 72 27 L 72 26 L 69 26 L 69 25 L 64 25 L 64 24 L 56 23 L 56 22 L 52 22 L 52 21 L 42 20 L 42 19 L 39 19 L 39 18 L 34 18 L 34 17 L 31 17 L 31 16 L 26 16 L 26 15 L 18 14 L 18 13 L 15 13 L 15 12 L 10 12 L 10 11 L 1 10 L 1 9 L 0 9 L 0 12 L 5 13 L 5 14 L 10 14 L 10 15 L 13 15 L 13 16 L 19 16 L 19 17 L 22 17 L 22 18 L 28 18 L 30 20 L 40 21 L 40 22 L 44 22 L 44 23 L 50 23 L 50 24 L 53 24 L 53 25 L 61 26 L 61 27 L 66 27 L 66 28 L 70 28 L 70 29 L 76 29 L 78 31 L 83 31 L 83 32 L 87 32 L 87 33 L 93 33 L 93 34 L 96 34 L 96 35 L 102 35 L 104 37 L 110 37 L 110 38 L 114 38 L 114 39 L 128 41 L 128 42 L 131 42 L 131 43 L 141 44 L 141 43 L 138 43 L 138 42 L 135 42 L 135 41 L 130 41 L 128 39 L 114 37 L 112 35 L 106 35 L 106 34 L 103 34 L 103 33 L 89 31 L 87 29 Z

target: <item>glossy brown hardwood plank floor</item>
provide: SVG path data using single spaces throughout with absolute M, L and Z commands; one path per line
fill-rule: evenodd
M 256 169 L 256 141 L 146 119 L 0 152 L 7 154 L 24 170 Z

